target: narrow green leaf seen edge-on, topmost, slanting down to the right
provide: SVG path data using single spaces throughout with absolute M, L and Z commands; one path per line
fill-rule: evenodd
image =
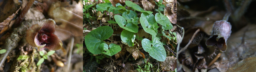
M 125 4 L 126 4 L 127 6 L 132 7 L 133 9 L 135 9 L 135 10 L 137 10 L 137 11 L 140 11 L 140 12 L 147 12 L 147 13 L 149 13 L 149 14 L 153 13 L 153 12 L 151 12 L 151 11 L 145 11 L 145 10 L 142 9 L 139 5 L 137 5 L 136 3 L 133 3 L 133 2 L 131 2 L 131 1 L 125 1 Z

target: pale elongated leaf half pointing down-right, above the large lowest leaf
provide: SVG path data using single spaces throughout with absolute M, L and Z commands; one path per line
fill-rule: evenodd
M 157 33 L 154 31 L 154 29 L 152 27 L 150 27 L 151 25 L 148 24 L 148 21 L 146 20 L 145 17 L 142 17 L 142 16 L 140 17 L 140 24 L 145 32 L 147 32 L 153 36 L 157 35 Z

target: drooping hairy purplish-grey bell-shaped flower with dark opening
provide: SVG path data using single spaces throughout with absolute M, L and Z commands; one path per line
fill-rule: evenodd
M 206 40 L 206 46 L 217 46 L 220 51 L 227 50 L 227 38 L 231 34 L 231 25 L 226 20 L 216 21 L 213 25 L 212 35 Z

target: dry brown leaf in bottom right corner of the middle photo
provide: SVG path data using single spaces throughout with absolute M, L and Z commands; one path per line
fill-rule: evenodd
M 166 57 L 166 59 L 163 62 L 160 62 L 161 69 L 163 69 L 163 70 L 176 69 L 177 67 L 171 67 L 172 65 L 174 65 L 174 63 L 176 63 L 176 60 L 177 60 L 177 58 L 175 58 L 173 56 Z

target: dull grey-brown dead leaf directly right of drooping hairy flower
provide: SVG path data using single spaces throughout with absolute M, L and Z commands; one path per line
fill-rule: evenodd
M 236 33 L 230 35 L 227 40 L 227 51 L 224 52 L 230 60 L 229 67 L 233 67 L 238 61 L 249 57 L 256 57 L 256 26 L 248 24 Z

